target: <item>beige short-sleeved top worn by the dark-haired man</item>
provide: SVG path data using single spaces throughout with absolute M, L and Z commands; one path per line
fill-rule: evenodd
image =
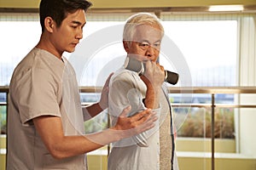
M 33 48 L 15 68 L 9 87 L 7 169 L 86 169 L 86 155 L 50 156 L 32 122 L 38 116 L 60 116 L 65 135 L 84 133 L 75 73 L 63 60 Z

